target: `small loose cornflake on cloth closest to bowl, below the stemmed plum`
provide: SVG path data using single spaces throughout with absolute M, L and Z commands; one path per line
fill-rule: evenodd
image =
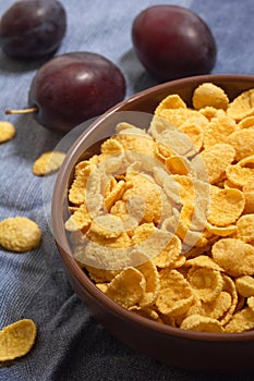
M 33 165 L 33 173 L 37 176 L 45 176 L 59 170 L 65 158 L 64 152 L 48 151 L 43 153 Z

